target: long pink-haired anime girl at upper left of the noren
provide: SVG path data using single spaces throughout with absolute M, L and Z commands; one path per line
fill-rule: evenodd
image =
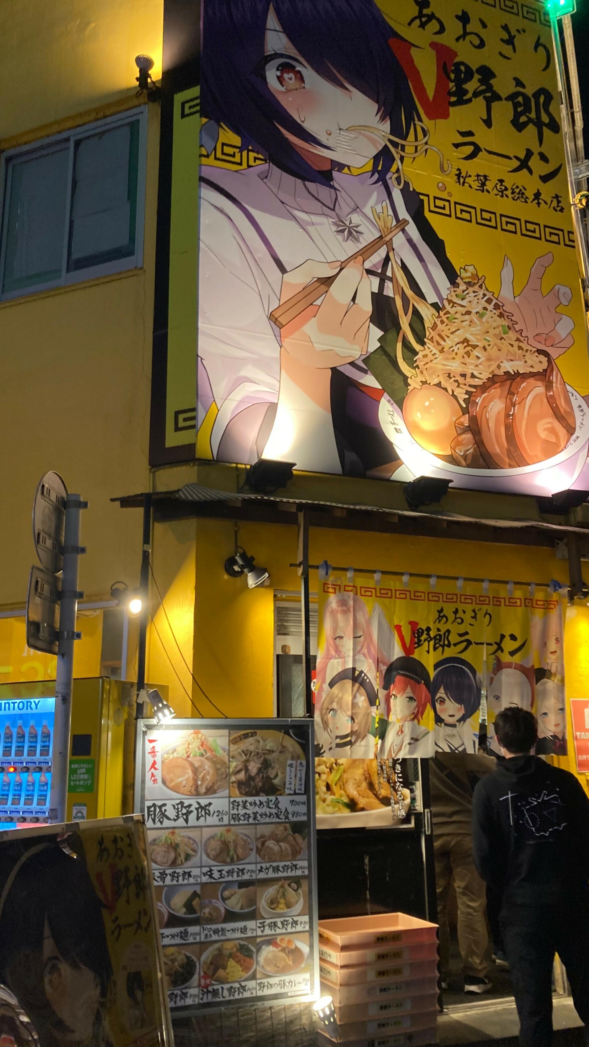
M 323 615 L 325 646 L 317 663 L 317 697 L 330 686 L 330 681 L 343 669 L 366 673 L 378 687 L 378 667 L 383 659 L 370 622 L 368 607 L 354 593 L 337 593 L 329 597 Z

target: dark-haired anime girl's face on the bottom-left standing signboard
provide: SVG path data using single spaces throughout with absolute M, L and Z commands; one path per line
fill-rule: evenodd
M 41 1047 L 111 1047 L 112 979 L 103 911 L 83 852 L 36 843 L 0 882 L 0 982 L 30 1017 Z

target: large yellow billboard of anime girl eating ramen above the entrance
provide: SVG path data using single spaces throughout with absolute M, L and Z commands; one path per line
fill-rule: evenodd
M 479 7 L 202 0 L 198 456 L 587 486 L 550 28 Z

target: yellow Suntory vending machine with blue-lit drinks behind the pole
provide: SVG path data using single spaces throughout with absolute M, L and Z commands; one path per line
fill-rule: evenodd
M 0 829 L 49 821 L 54 682 L 0 685 Z M 74 680 L 67 819 L 123 811 L 125 721 L 132 685 Z

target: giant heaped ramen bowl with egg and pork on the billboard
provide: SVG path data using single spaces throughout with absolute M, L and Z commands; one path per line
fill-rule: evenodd
M 408 391 L 383 397 L 380 425 L 416 475 L 564 490 L 587 458 L 589 408 L 484 281 L 462 268 L 411 364 L 397 352 Z

